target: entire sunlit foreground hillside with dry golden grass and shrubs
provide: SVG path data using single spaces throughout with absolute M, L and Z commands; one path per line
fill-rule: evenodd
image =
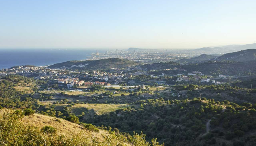
M 143 134 L 126 137 L 119 131 L 91 132 L 91 124 L 80 125 L 39 114 L 24 116 L 21 111 L 3 109 L 0 110 L 0 145 L 150 146 Z M 163 146 L 158 145 L 156 139 L 153 142 L 154 146 Z

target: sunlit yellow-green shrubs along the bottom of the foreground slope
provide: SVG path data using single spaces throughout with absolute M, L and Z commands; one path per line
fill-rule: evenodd
M 0 115 L 0 144 L 19 146 L 150 146 L 144 139 L 145 135 L 135 134 L 133 137 L 124 137 L 119 133 L 109 131 L 97 136 L 86 129 L 75 128 L 71 133 L 57 134 L 60 127 L 44 126 L 37 127 L 27 125 L 20 120 L 23 119 L 21 111 L 3 113 Z M 54 122 L 62 123 L 56 119 Z M 53 122 L 53 123 L 54 123 Z M 10 124 L 12 123 L 12 124 Z M 38 121 L 38 123 L 40 123 Z M 71 125 L 71 123 L 68 123 Z M 68 124 L 65 124 L 67 126 Z M 55 124 L 56 126 L 57 124 Z M 63 124 L 60 124 L 64 126 Z M 68 128 L 68 127 L 67 127 Z M 82 126 L 80 128 L 84 129 Z M 76 131 L 76 134 L 73 133 Z M 81 132 L 78 132 L 81 131 Z M 158 145 L 156 139 L 152 140 L 153 146 Z

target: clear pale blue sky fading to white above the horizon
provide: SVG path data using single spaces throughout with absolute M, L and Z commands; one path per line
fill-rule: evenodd
M 0 48 L 249 44 L 256 0 L 0 0 Z

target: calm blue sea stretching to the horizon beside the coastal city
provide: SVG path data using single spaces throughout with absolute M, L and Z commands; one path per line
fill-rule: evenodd
M 99 50 L 99 53 L 106 50 Z M 53 65 L 71 60 L 84 60 L 96 53 L 96 49 L 0 49 L 0 69 L 12 66 Z

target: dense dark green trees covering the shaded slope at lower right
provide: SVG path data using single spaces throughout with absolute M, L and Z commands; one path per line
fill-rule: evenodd
M 250 103 L 238 105 L 227 100 L 215 101 L 206 98 L 202 98 L 202 100 L 200 98 L 193 100 L 164 100 L 160 98 L 141 100 L 135 104 L 136 106 L 117 110 L 116 114 L 98 115 L 85 122 L 95 126 L 104 125 L 118 128 L 120 132 L 129 134 L 133 134 L 133 131 L 143 131 L 147 135 L 146 139 L 158 138 L 159 142 L 165 143 L 166 146 L 176 145 L 180 142 L 194 143 L 200 139 L 201 134 L 206 132 L 206 123 L 213 117 L 215 118 L 212 119 L 211 124 L 216 126 L 215 128 L 221 129 L 219 132 L 222 136 L 218 136 L 219 132 L 217 134 L 211 132 L 213 136 L 207 138 L 209 137 L 207 134 L 204 138 L 207 144 L 217 143 L 216 138 L 218 137 L 229 137 L 231 132 L 229 128 L 233 125 L 233 120 L 238 125 L 237 129 L 232 131 L 234 138 L 242 137 L 244 133 L 250 131 L 249 129 L 255 130 L 253 126 L 256 124 L 255 110 Z M 227 109 L 223 110 L 223 107 L 227 107 Z M 249 109 L 248 112 L 245 112 L 246 109 Z M 247 123 L 240 122 L 245 118 L 248 118 L 246 119 Z M 230 139 L 225 140 L 230 141 Z

